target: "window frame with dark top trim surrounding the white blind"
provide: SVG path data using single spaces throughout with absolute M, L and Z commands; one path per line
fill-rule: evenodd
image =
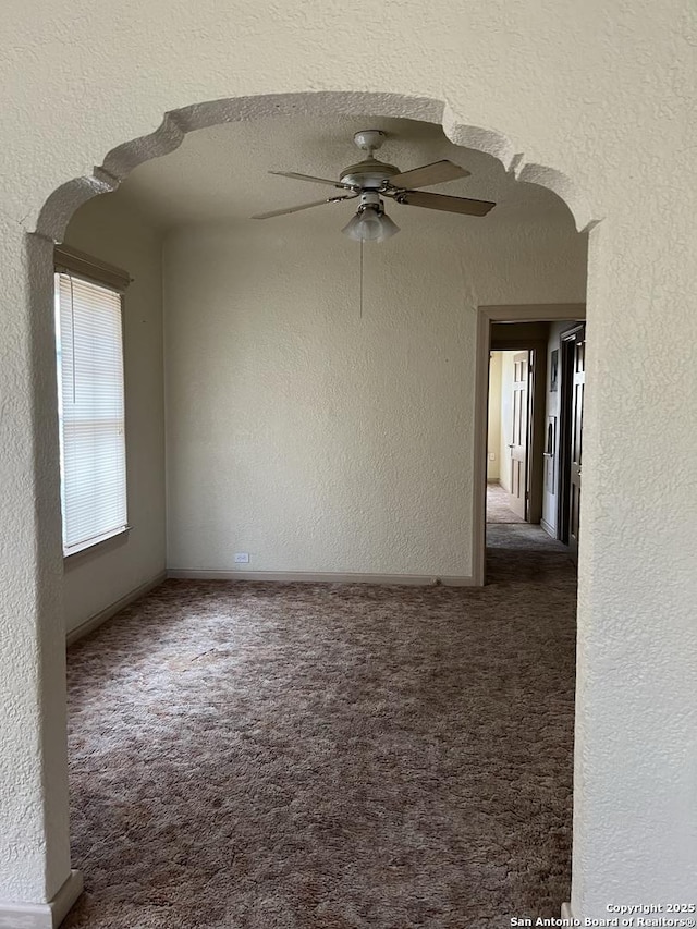
M 126 536 L 131 530 L 129 522 L 129 449 L 127 449 L 127 416 L 126 416 L 126 371 L 125 371 L 125 306 L 124 293 L 132 278 L 126 271 L 113 265 L 101 261 L 98 258 L 87 255 L 84 252 L 70 248 L 65 245 L 57 245 L 53 250 L 53 272 L 54 274 L 69 274 L 72 278 L 82 279 L 90 284 L 97 284 L 100 288 L 110 290 L 119 296 L 120 304 L 120 326 L 121 326 L 121 362 L 122 362 L 122 395 L 123 395 L 123 466 L 125 481 L 125 524 L 119 528 L 108 530 L 96 535 L 89 539 L 84 539 L 81 542 L 75 542 L 72 546 L 65 546 L 64 542 L 64 478 L 63 478 L 63 424 L 59 413 L 59 438 L 61 445 L 61 546 L 63 551 L 63 561 L 69 562 L 73 559 L 85 555 L 100 549 L 108 542 L 112 542 L 123 536 Z M 57 296 L 57 279 L 53 284 L 54 300 Z M 58 335 L 58 332 L 57 332 Z M 56 344 L 56 368 L 57 368 L 57 388 L 62 378 L 62 368 L 58 356 L 58 342 Z M 60 390 L 60 388 L 58 388 Z M 59 396 L 57 396 L 57 400 Z

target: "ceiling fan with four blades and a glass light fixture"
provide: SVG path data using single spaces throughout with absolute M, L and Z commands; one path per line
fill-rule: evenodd
M 301 204 L 296 207 L 257 213 L 252 219 L 270 219 L 274 216 L 284 216 L 298 210 L 310 209 L 310 207 L 319 207 L 323 204 L 339 204 L 343 200 L 359 198 L 358 210 L 342 229 L 342 232 L 350 239 L 359 242 L 381 242 L 400 231 L 400 228 L 384 212 L 382 197 L 390 197 L 398 204 L 406 204 L 412 207 L 447 210 L 465 216 L 486 216 L 496 206 L 489 200 L 470 200 L 466 197 L 450 197 L 415 190 L 415 187 L 430 187 L 432 184 L 442 184 L 444 181 L 467 178 L 469 171 L 448 160 L 435 161 L 432 164 L 424 164 L 420 168 L 413 168 L 411 171 L 400 171 L 394 164 L 388 164 L 375 158 L 374 152 L 382 145 L 384 135 L 380 130 L 357 132 L 353 139 L 358 148 L 368 152 L 368 157 L 357 164 L 344 168 L 339 181 L 313 178 L 309 174 L 297 174 L 294 171 L 270 171 L 270 174 L 279 174 L 281 178 L 294 178 L 297 181 L 310 181 L 314 184 L 329 184 L 348 193 L 327 197 L 323 200 L 314 200 L 311 204 Z

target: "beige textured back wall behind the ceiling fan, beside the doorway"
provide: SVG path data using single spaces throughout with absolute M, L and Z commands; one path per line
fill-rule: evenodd
M 583 302 L 586 237 L 417 220 L 363 318 L 332 211 L 168 237 L 169 567 L 472 575 L 476 307 Z

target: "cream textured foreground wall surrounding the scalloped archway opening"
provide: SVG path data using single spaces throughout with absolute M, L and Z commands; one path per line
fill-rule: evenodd
M 37 709 L 62 700 L 57 659 L 41 664 L 38 646 L 60 587 L 50 574 L 54 436 L 50 426 L 40 431 L 54 403 L 41 381 L 42 370 L 51 374 L 50 345 L 33 341 L 30 309 L 48 314 L 50 294 L 28 301 L 22 233 L 52 191 L 90 175 L 168 110 L 245 95 L 374 90 L 387 96 L 371 106 L 362 99 L 364 112 L 442 113 L 458 140 L 500 144 L 524 178 L 565 187 L 582 222 L 603 219 L 589 261 L 573 906 L 601 916 L 610 896 L 694 899 L 695 5 L 437 0 L 427 22 L 423 4 L 356 0 L 352 9 L 346 16 L 334 2 L 9 4 L 0 51 L 1 339 L 10 359 L 0 367 L 0 479 L 13 505 L 5 502 L 1 523 L 0 636 L 12 643 L 2 726 L 14 770 L 26 778 L 9 786 L 2 769 L 0 897 L 50 892 L 65 866 L 62 852 L 24 828 L 30 810 L 29 819 L 46 815 L 60 831 L 53 814 L 64 807 L 64 758 Z M 390 27 L 376 54 L 355 24 L 383 21 L 386 11 Z M 417 96 L 447 107 L 419 109 L 409 102 Z M 322 98 L 322 106 L 341 111 L 355 100 Z M 252 118 L 258 108 L 252 100 L 232 112 Z M 175 145 L 174 123 L 167 133 Z M 60 724 L 52 731 L 60 736 Z M 37 786 L 37 759 L 44 783 L 58 787 Z

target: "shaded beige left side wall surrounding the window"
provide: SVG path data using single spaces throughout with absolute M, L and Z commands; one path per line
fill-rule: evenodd
M 164 570 L 161 240 L 117 198 L 76 213 L 65 242 L 134 279 L 123 303 L 126 467 L 131 531 L 64 562 L 70 633 Z

